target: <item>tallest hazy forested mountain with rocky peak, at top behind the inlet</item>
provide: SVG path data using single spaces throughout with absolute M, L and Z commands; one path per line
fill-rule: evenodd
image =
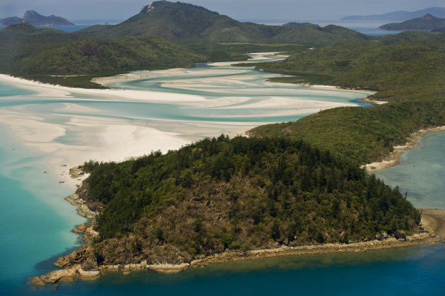
M 344 39 L 367 40 L 355 30 L 338 26 L 292 28 L 242 23 L 201 6 L 155 1 L 119 25 L 95 26 L 80 33 L 109 36 L 159 35 L 175 42 L 299 42 L 312 45 Z

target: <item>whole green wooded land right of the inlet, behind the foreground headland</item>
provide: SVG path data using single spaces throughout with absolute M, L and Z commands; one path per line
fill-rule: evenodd
M 250 134 L 304 138 L 361 164 L 381 160 L 413 132 L 445 124 L 444 40 L 444 33 L 404 32 L 379 42 L 342 42 L 292 54 L 283 63 L 256 65 L 298 75 L 275 81 L 377 90 L 370 98 L 389 103 L 329 109 L 297 122 L 259 126 Z

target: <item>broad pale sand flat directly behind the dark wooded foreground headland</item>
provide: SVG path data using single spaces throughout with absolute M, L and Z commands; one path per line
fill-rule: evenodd
M 2 110 L 0 122 L 9 126 L 27 146 L 46 153 L 47 162 L 69 186 L 80 184 L 81 178 L 69 177 L 69 168 L 85 160 L 122 161 L 153 150 L 175 150 L 190 143 L 178 134 L 162 132 L 147 126 L 136 126 L 122 119 L 74 117 L 66 124 L 49 124 L 42 118 Z M 57 138 L 67 131 L 76 132 L 77 145 L 65 144 Z

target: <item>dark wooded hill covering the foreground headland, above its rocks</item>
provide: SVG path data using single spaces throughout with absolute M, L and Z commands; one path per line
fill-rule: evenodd
M 141 260 L 144 252 L 165 250 L 161 246 L 193 259 L 226 248 L 413 232 L 420 222 L 397 189 L 328 150 L 290 138 L 222 135 L 166 155 L 87 162 L 84 170 L 92 172 L 83 198 L 104 207 L 97 256 L 107 264 L 124 262 L 124 254 L 112 251 L 116 238 L 132 239 L 132 256 Z

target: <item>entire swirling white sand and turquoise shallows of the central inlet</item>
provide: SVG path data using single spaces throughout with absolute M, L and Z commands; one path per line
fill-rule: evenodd
M 252 54 L 253 61 L 283 59 Z M 74 185 L 69 167 L 88 160 L 121 161 L 209 136 L 236 136 L 272 122 L 341 106 L 369 93 L 266 82 L 276 74 L 232 67 L 135 71 L 97 78 L 114 89 L 66 88 L 0 74 L 0 83 L 35 92 L 0 97 L 0 124 L 47 155 L 61 181 Z

